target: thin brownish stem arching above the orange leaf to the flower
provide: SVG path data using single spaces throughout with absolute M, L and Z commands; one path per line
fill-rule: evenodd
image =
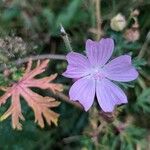
M 40 60 L 40 59 L 57 59 L 57 60 L 66 60 L 65 55 L 57 55 L 57 54 L 43 54 L 43 55 L 36 55 L 36 56 L 28 56 L 22 59 L 18 59 L 16 61 L 12 61 L 10 64 L 14 64 L 15 66 L 20 66 L 23 63 L 26 63 L 29 61 L 29 59 L 32 60 Z M 9 68 L 6 65 L 0 66 L 0 71 L 3 71 L 4 69 Z

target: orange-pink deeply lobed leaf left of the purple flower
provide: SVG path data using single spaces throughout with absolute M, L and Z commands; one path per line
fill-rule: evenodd
M 36 67 L 31 70 L 32 61 L 30 60 L 20 81 L 9 87 L 6 93 L 0 97 L 0 105 L 6 103 L 8 98 L 11 97 L 11 106 L 0 117 L 1 121 L 11 116 L 12 127 L 18 130 L 22 129 L 20 120 L 25 120 L 21 112 L 20 96 L 22 96 L 27 104 L 33 109 L 35 122 L 37 122 L 40 127 L 44 127 L 44 118 L 49 125 L 51 122 L 57 125 L 59 114 L 53 112 L 49 108 L 57 107 L 60 102 L 55 101 L 52 97 L 43 97 L 30 89 L 31 87 L 35 87 L 43 90 L 49 89 L 53 92 L 62 91 L 61 84 L 51 83 L 51 81 L 56 78 L 57 74 L 41 79 L 34 78 L 45 71 L 48 62 L 48 60 L 45 60 L 42 63 L 38 61 Z

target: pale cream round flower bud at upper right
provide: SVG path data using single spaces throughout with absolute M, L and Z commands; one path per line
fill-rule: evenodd
M 111 29 L 114 31 L 122 31 L 126 27 L 125 17 L 119 13 L 111 19 Z

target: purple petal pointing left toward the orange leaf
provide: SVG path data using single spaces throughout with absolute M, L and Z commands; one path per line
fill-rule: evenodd
M 70 52 L 67 55 L 68 67 L 63 76 L 68 78 L 81 78 L 89 74 L 90 62 L 86 56 Z

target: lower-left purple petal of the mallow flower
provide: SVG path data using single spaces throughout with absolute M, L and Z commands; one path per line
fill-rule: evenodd
M 90 78 L 81 78 L 76 81 L 69 91 L 70 99 L 78 100 L 87 111 L 92 106 L 95 97 L 95 80 Z

